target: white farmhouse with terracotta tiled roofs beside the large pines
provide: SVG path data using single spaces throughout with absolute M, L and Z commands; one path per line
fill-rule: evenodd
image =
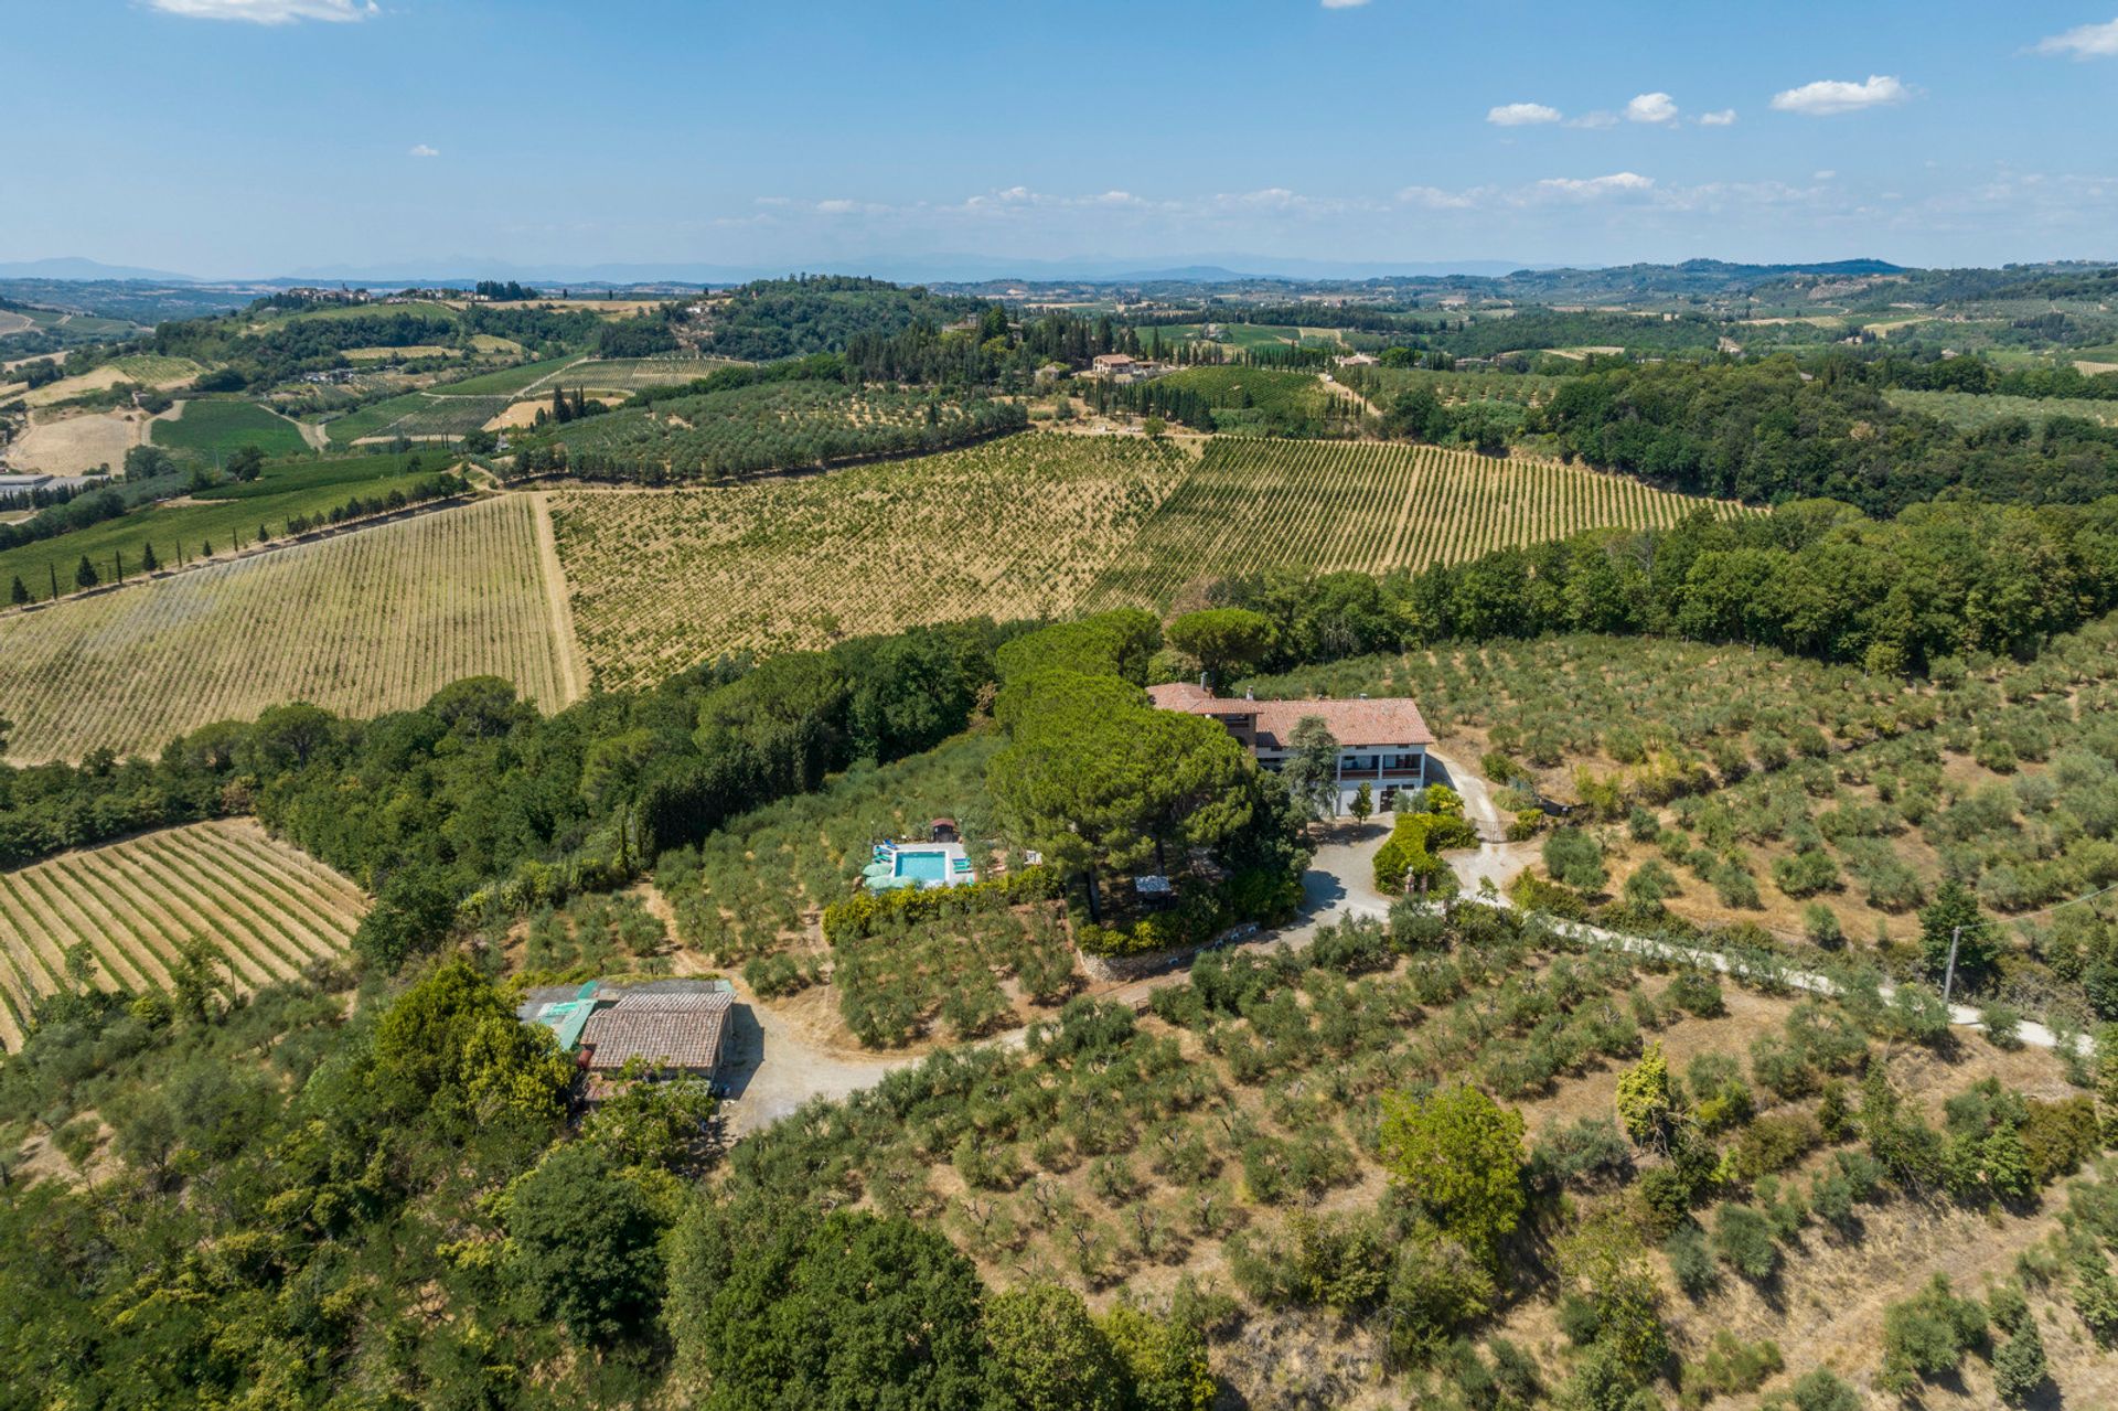
M 1353 803 L 1366 784 L 1375 807 L 1389 809 L 1400 788 L 1423 788 L 1428 782 L 1428 746 L 1434 735 L 1408 699 L 1339 699 L 1339 701 L 1256 701 L 1218 697 L 1190 682 L 1148 686 L 1148 697 L 1163 710 L 1192 716 L 1214 716 L 1267 769 L 1279 769 L 1292 752 L 1294 727 L 1305 716 L 1317 716 L 1339 742 L 1339 807 Z

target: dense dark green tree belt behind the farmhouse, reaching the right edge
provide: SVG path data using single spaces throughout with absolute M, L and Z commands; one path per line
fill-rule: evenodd
M 1269 619 L 1264 669 L 1555 631 L 1777 646 L 1879 674 L 1963 653 L 2029 657 L 2118 608 L 2118 496 L 2082 506 L 1938 502 L 1874 521 L 1847 504 L 1699 511 L 1419 572 L 1239 574 L 1216 606 Z

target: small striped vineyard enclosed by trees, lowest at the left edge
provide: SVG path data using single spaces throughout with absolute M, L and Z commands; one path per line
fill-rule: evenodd
M 21 1047 L 36 996 L 167 989 L 195 941 L 210 983 L 248 994 L 337 955 L 360 890 L 252 822 L 208 822 L 0 873 L 0 1042 Z

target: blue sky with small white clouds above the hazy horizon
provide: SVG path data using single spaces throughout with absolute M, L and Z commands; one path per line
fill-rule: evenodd
M 0 261 L 2118 256 L 2118 0 L 0 0 Z

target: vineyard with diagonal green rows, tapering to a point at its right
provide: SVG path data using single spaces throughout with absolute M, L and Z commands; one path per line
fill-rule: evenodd
M 1599 525 L 1741 513 L 1542 460 L 1413 445 L 1216 439 L 1082 602 L 1167 604 L 1199 578 L 1269 568 L 1387 572 Z

